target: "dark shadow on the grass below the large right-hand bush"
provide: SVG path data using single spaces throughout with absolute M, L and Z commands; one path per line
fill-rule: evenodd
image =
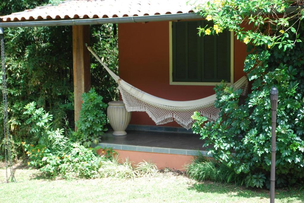
M 188 190 L 195 190 L 204 193 L 227 194 L 228 196 L 237 196 L 243 198 L 259 197 L 261 199 L 269 198 L 269 190 L 261 188 L 245 188 L 244 186 L 238 187 L 232 184 L 203 182 L 195 183 L 188 188 Z M 304 202 L 304 191 L 299 188 L 291 190 L 277 189 L 276 199 L 293 198 L 293 201 Z

